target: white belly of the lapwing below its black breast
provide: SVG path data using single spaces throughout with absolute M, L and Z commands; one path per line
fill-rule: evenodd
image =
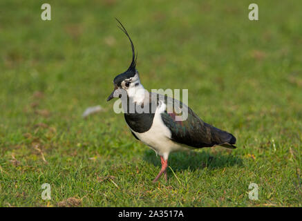
M 188 151 L 187 146 L 183 146 L 171 140 L 171 131 L 162 122 L 160 113 L 165 110 L 165 104 L 161 104 L 155 111 L 153 124 L 149 131 L 138 133 L 131 130 L 138 139 L 144 144 L 147 144 L 159 155 L 163 156 L 165 160 L 168 159 L 169 153 L 174 151 Z M 130 127 L 129 127 L 130 128 Z M 131 129 L 131 128 L 130 128 Z

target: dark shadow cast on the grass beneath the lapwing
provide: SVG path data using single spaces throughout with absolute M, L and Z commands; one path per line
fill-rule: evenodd
M 154 166 L 161 166 L 160 157 L 156 157 L 152 150 L 145 151 L 143 160 Z M 205 167 L 208 169 L 217 169 L 234 165 L 243 165 L 240 157 L 223 153 L 223 151 L 221 153 L 208 153 L 205 151 L 171 153 L 169 155 L 168 163 L 173 171 L 182 171 L 186 169 L 195 171 L 196 169 L 203 169 Z

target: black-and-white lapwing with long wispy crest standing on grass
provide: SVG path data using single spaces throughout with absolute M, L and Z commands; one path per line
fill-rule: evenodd
M 117 20 L 118 21 L 118 20 Z M 122 102 L 124 118 L 133 136 L 151 147 L 155 153 L 160 155 L 162 169 L 153 182 L 157 182 L 162 174 L 167 181 L 167 166 L 169 154 L 175 151 L 188 151 L 196 148 L 224 146 L 236 148 L 236 137 L 231 133 L 222 131 L 210 124 L 207 124 L 182 102 L 171 97 L 157 93 L 149 93 L 140 83 L 138 70 L 136 69 L 135 48 L 133 42 L 120 21 L 119 28 L 129 38 L 132 48 L 132 61 L 129 68 L 113 80 L 114 90 L 109 95 L 107 102 L 113 97 L 120 97 L 122 91 L 126 94 Z M 131 105 L 135 111 L 129 111 Z M 169 108 L 173 106 L 173 108 Z M 146 108 L 149 111 L 137 111 L 136 107 Z M 178 109 L 177 109 L 178 108 Z M 187 110 L 183 119 L 177 119 Z M 185 109 L 184 109 L 185 108 Z M 172 111 L 171 111 L 172 109 Z

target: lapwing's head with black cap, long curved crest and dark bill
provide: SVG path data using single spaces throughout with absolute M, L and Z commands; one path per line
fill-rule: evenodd
M 126 90 L 126 92 L 129 94 L 129 91 L 131 89 L 134 89 L 135 86 L 140 85 L 140 77 L 138 76 L 138 70 L 136 70 L 136 68 L 135 68 L 136 59 L 138 56 L 137 55 L 135 56 L 135 48 L 134 48 L 133 42 L 132 42 L 128 32 L 126 31 L 126 28 L 124 28 L 124 26 L 122 25 L 122 23 L 119 20 L 117 20 L 117 22 L 120 23 L 120 25 L 122 26 L 122 27 L 120 27 L 120 26 L 118 26 L 118 27 L 126 34 L 126 36 L 130 40 L 131 48 L 132 48 L 132 61 L 131 61 L 129 68 L 124 73 L 117 75 L 115 77 L 115 79 L 113 79 L 114 90 L 111 93 L 111 95 L 109 95 L 109 97 L 107 98 L 107 102 L 110 101 L 111 99 L 113 99 L 113 97 L 119 97 L 119 94 L 115 93 L 115 90 L 123 89 L 123 90 Z

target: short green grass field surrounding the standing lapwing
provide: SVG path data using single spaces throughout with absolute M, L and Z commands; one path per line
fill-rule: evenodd
M 256 1 L 259 21 L 250 1 L 45 2 L 52 21 L 41 1 L 0 2 L 0 206 L 302 206 L 301 1 Z M 144 87 L 189 89 L 238 148 L 171 154 L 151 182 L 160 158 L 106 102 L 131 61 L 115 17 Z

